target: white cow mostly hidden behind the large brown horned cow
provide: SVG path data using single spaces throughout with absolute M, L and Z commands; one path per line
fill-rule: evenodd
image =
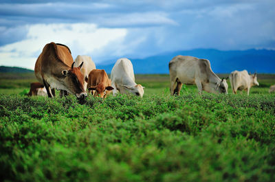
M 76 56 L 76 59 L 74 60 L 74 62 L 76 62 L 74 64 L 74 67 L 79 67 L 81 65 L 81 63 L 83 62 L 83 66 L 81 68 L 81 73 L 83 74 L 84 78 L 85 78 L 85 82 L 84 82 L 84 89 L 87 89 L 87 82 L 88 82 L 88 78 L 89 78 L 89 73 L 91 70 L 96 69 L 96 65 L 94 63 L 93 60 L 91 60 L 90 56 Z

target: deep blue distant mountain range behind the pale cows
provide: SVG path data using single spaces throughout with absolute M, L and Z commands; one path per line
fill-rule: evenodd
M 230 73 L 247 69 L 258 73 L 275 73 L 275 51 L 267 49 L 249 49 L 245 51 L 220 51 L 217 49 L 192 49 L 159 54 L 143 59 L 129 58 L 135 73 L 169 73 L 168 62 L 177 55 L 195 56 L 210 60 L 215 73 Z M 110 62 L 110 61 L 106 61 Z M 115 62 L 110 65 L 96 65 L 111 73 Z

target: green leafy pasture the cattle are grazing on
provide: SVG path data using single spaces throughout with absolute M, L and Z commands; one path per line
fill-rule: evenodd
M 28 98 L 32 74 L 0 74 L 0 181 L 275 181 L 274 75 L 250 95 L 170 96 L 138 75 L 144 98 Z M 228 81 L 229 82 L 229 81 Z

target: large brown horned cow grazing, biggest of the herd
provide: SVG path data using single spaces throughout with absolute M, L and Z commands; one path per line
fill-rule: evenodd
M 87 97 L 84 89 L 84 76 L 80 72 L 83 63 L 74 67 L 74 60 L 69 47 L 62 44 L 48 43 L 37 58 L 34 73 L 44 84 L 49 98 L 55 96 L 54 89 L 61 90 L 61 96 L 72 93 L 80 100 Z

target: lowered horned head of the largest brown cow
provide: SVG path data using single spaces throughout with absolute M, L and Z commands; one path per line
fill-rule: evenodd
M 79 99 L 85 99 L 87 97 L 87 93 L 84 89 L 84 77 L 80 72 L 81 67 L 83 66 L 83 62 L 79 67 L 74 67 L 74 62 L 72 64 L 72 68 L 69 70 L 63 70 L 62 75 L 64 78 L 64 86 L 66 87 L 69 93 L 76 95 Z

